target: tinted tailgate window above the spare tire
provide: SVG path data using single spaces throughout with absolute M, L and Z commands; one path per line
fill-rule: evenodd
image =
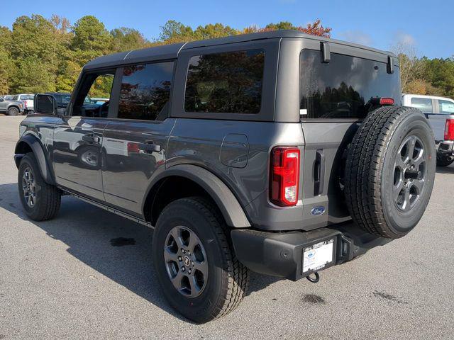
M 400 102 L 399 68 L 387 73 L 387 64 L 331 53 L 322 63 L 320 51 L 304 50 L 300 60 L 301 114 L 306 118 L 364 118 L 371 98 Z

